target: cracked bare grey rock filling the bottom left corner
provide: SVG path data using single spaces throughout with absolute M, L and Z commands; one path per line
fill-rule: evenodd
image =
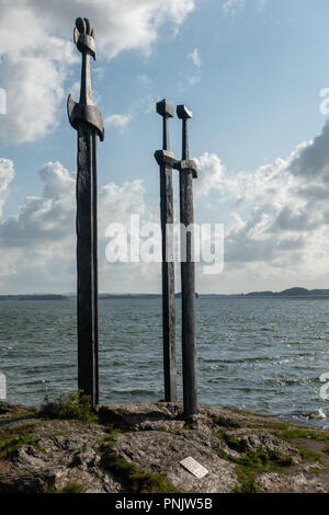
M 56 435 L 64 430 L 67 435 Z M 86 493 L 121 491 L 118 482 L 93 466 L 99 461 L 97 442 L 106 436 L 99 426 L 54 421 L 42 423 L 35 433 L 37 447 L 21 446 L 0 469 L 1 493 L 60 490 L 68 483 L 83 485 Z

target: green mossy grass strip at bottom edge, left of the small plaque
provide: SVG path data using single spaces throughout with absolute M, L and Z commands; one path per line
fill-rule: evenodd
M 162 476 L 138 470 L 134 464 L 124 460 L 112 449 L 107 449 L 101 459 L 101 465 L 121 480 L 126 481 L 134 493 L 179 493 Z

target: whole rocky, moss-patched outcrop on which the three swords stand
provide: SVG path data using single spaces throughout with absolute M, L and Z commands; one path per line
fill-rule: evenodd
M 98 423 L 1 407 L 1 493 L 329 490 L 325 431 L 211 407 L 186 420 L 180 403 L 166 402 L 101 405 Z M 183 468 L 188 457 L 208 473 Z

